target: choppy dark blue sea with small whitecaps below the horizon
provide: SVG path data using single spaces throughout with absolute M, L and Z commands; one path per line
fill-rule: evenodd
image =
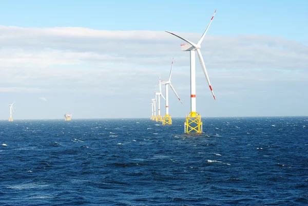
M 308 117 L 173 121 L 1 121 L 0 204 L 308 204 Z

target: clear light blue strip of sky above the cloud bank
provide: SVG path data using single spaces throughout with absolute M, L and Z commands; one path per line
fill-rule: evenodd
M 306 41 L 308 34 L 306 0 L 0 2 L 0 24 L 6 26 L 201 32 L 218 9 L 209 34 L 254 33 L 297 41 Z

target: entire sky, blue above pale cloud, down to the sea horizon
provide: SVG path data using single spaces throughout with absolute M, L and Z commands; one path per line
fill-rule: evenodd
M 308 115 L 308 1 L 0 1 L 0 119 L 150 118 L 159 77 L 169 114 L 190 112 L 189 52 L 197 112 L 206 117 Z M 164 86 L 163 95 L 165 93 Z M 161 102 L 161 115 L 165 114 Z

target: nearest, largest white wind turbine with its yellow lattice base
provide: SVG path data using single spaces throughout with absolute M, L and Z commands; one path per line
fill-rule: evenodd
M 171 33 L 169 31 L 166 31 L 172 35 L 177 36 L 178 38 L 180 38 L 181 40 L 184 40 L 185 42 L 187 42 L 188 44 L 181 44 L 182 47 L 182 51 L 190 51 L 190 114 L 188 116 L 186 116 L 186 121 L 185 121 L 185 133 L 189 133 L 189 132 L 197 132 L 197 133 L 202 133 L 202 122 L 201 122 L 201 116 L 197 113 L 196 111 L 196 55 L 195 55 L 195 51 L 197 51 L 198 53 L 198 58 L 201 64 L 201 67 L 203 69 L 203 72 L 205 74 L 205 78 L 207 80 L 208 86 L 210 91 L 213 94 L 214 99 L 215 95 L 213 92 L 213 89 L 210 85 L 209 82 L 209 78 L 206 72 L 206 68 L 204 65 L 204 61 L 202 58 L 202 54 L 200 51 L 201 48 L 201 43 L 204 39 L 204 36 L 215 16 L 216 10 L 214 12 L 214 15 L 211 17 L 209 24 L 207 25 L 204 33 L 202 34 L 199 42 L 197 44 L 190 42 L 189 40 L 186 40 L 184 38 L 182 38 L 181 36 Z

